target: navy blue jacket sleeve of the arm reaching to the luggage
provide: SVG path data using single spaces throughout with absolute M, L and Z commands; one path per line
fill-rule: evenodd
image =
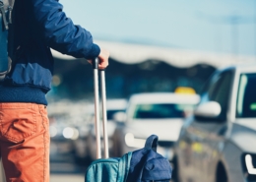
M 92 34 L 73 24 L 57 0 L 30 0 L 36 30 L 47 46 L 76 58 L 96 58 L 100 52 Z

